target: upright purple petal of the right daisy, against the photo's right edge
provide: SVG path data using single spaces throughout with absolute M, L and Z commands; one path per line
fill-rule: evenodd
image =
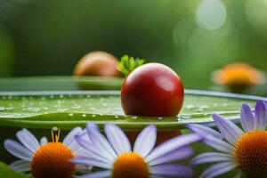
M 263 101 L 257 101 L 255 105 L 255 129 L 265 130 L 267 123 L 267 110 Z

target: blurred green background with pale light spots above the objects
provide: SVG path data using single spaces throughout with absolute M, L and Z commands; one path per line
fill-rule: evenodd
M 211 89 L 211 72 L 227 63 L 267 70 L 266 9 L 267 0 L 0 0 L 0 76 L 71 75 L 103 50 L 165 63 L 186 88 Z

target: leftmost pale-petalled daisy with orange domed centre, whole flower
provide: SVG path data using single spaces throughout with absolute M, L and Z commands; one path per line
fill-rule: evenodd
M 59 142 L 58 134 L 53 134 L 53 142 L 48 142 L 43 137 L 40 142 L 27 129 L 21 129 L 16 136 L 20 142 L 7 139 L 4 148 L 20 160 L 10 166 L 15 171 L 28 172 L 36 178 L 71 177 L 75 171 L 75 165 L 69 159 L 83 155 L 84 149 L 74 139 L 76 134 L 82 133 L 81 127 L 75 127 Z

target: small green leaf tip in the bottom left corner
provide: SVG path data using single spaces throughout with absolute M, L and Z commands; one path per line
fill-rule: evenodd
M 22 174 L 13 171 L 9 166 L 6 166 L 3 162 L 0 162 L 0 175 L 4 178 L 30 178 L 27 174 Z

